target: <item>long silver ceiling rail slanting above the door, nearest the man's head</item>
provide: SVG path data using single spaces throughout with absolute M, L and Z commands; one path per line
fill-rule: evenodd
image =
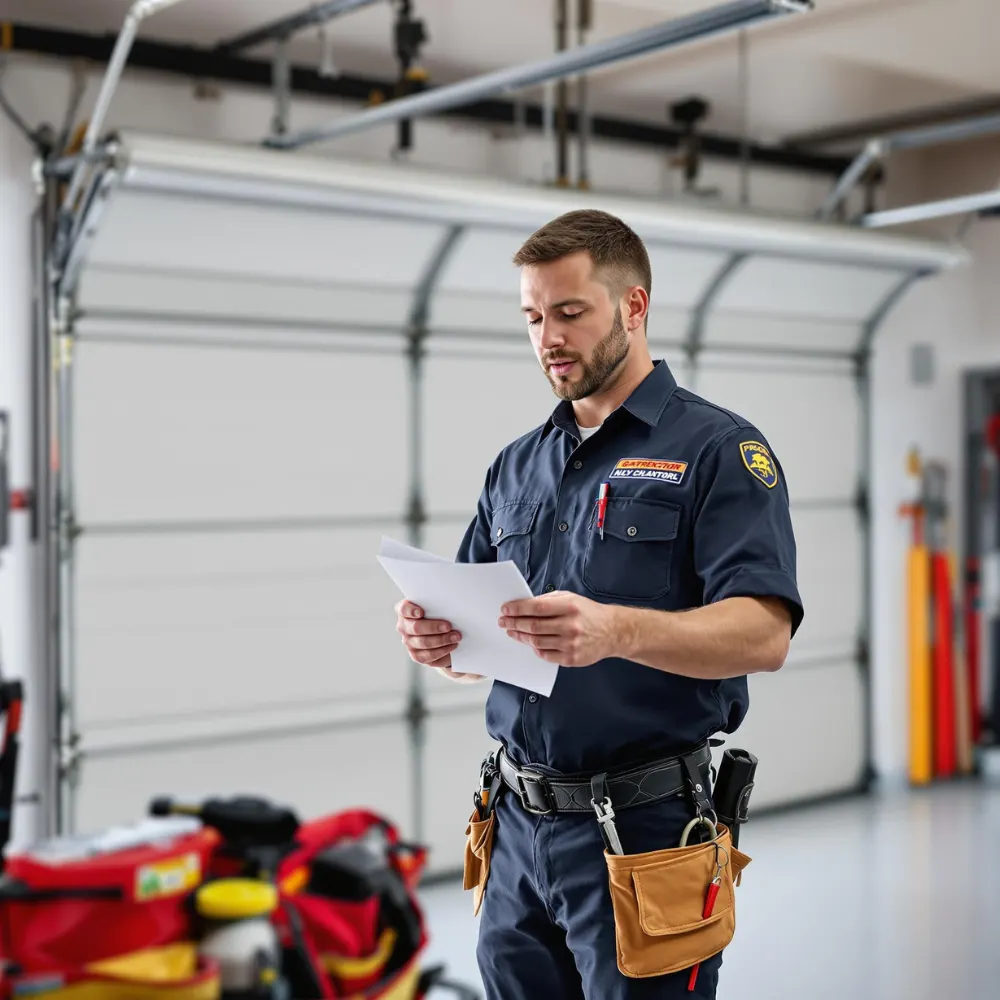
M 512 66 L 445 87 L 389 101 L 327 125 L 283 136 L 272 136 L 266 145 L 293 149 L 336 139 L 404 118 L 436 114 L 471 104 L 496 94 L 522 90 L 561 80 L 602 66 L 660 52 L 704 38 L 737 31 L 758 22 L 812 10 L 812 0 L 733 0 L 710 10 L 676 18 L 628 35 L 570 49 L 539 62 Z

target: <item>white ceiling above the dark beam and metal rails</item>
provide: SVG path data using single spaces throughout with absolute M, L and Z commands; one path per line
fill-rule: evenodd
M 130 0 L 0 0 L 5 19 L 116 31 Z M 148 20 L 143 37 L 211 45 L 303 9 L 307 0 L 184 0 Z M 415 0 L 430 40 L 424 65 L 443 83 L 543 58 L 553 48 L 551 0 Z M 595 0 L 598 40 L 714 6 L 705 0 Z M 571 0 L 571 9 L 575 2 Z M 388 2 L 330 25 L 338 66 L 392 77 Z M 575 31 L 573 33 L 575 41 Z M 748 121 L 761 141 L 874 115 L 1000 94 L 1000 0 L 816 0 L 811 13 L 751 30 Z M 258 50 L 265 54 L 267 47 Z M 316 29 L 300 35 L 297 62 L 318 62 Z M 666 121 L 667 104 L 697 93 L 712 104 L 706 127 L 736 132 L 743 100 L 737 39 L 693 44 L 600 73 L 594 109 Z

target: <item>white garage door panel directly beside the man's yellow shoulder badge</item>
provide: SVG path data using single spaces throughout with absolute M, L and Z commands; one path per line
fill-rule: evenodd
M 850 499 L 858 481 L 857 396 L 837 371 L 775 371 L 713 356 L 697 371 L 698 394 L 750 421 L 770 443 L 792 502 Z

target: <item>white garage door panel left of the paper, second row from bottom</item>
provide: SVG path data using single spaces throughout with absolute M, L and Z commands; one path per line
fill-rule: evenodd
M 81 722 L 402 691 L 380 534 L 84 535 Z

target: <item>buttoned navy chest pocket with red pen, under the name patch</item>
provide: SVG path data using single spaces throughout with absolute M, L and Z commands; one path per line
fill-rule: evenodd
M 591 516 L 583 582 L 602 597 L 653 601 L 670 590 L 681 508 L 662 500 L 611 499 L 604 538 Z

